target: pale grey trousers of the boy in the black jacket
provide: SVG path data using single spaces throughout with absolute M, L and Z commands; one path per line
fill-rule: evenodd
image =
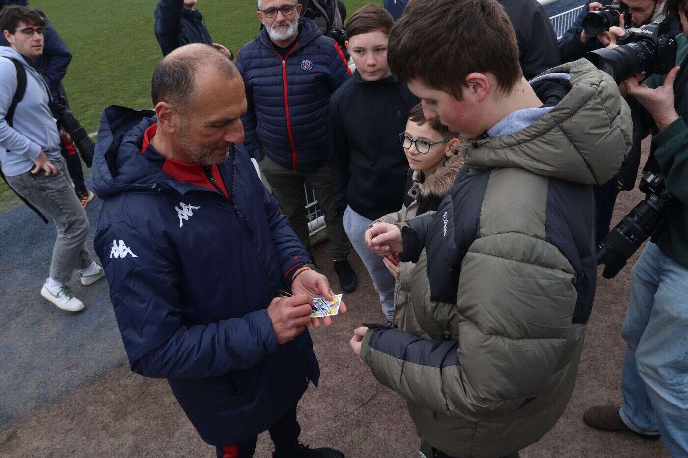
M 358 253 L 365 268 L 370 274 L 376 292 L 380 296 L 380 304 L 383 306 L 383 314 L 387 320 L 394 318 L 394 276 L 385 267 L 383 259 L 370 251 L 365 244 L 365 231 L 373 221 L 358 215 L 350 206 L 347 206 L 342 218 L 344 230 L 349 236 L 354 250 Z

